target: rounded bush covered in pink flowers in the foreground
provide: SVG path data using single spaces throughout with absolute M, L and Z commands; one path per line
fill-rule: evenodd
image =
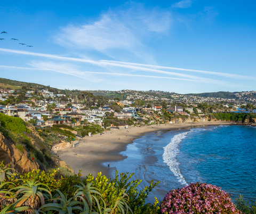
M 162 213 L 242 213 L 220 187 L 205 183 L 191 183 L 166 194 Z

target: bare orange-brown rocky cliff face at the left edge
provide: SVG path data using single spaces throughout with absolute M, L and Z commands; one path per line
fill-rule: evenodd
M 11 163 L 18 172 L 28 172 L 38 169 L 38 164 L 28 159 L 27 155 L 15 148 L 0 132 L 0 160 L 4 164 Z

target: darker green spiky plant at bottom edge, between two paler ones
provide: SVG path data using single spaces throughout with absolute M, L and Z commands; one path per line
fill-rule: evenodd
M 57 191 L 59 194 L 57 194 L 56 197 L 54 197 L 54 199 L 52 200 L 56 201 L 57 203 L 44 204 L 39 210 L 42 210 L 44 212 L 54 210 L 59 212 L 60 214 L 70 214 L 73 213 L 73 211 L 80 211 L 83 214 L 89 213 L 88 210 L 82 209 L 82 205 L 84 205 L 83 202 L 74 200 L 74 197 L 67 199 L 67 197 L 63 195 L 59 190 L 55 191 Z M 81 207 L 79 207 L 79 205 Z

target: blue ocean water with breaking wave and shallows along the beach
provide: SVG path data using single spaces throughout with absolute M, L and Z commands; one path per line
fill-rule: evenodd
M 127 145 L 122 161 L 113 162 L 111 175 L 135 172 L 142 180 L 161 183 L 150 193 L 162 200 L 173 188 L 191 182 L 222 187 L 234 200 L 240 194 L 256 201 L 256 128 L 250 126 L 205 126 L 149 133 Z

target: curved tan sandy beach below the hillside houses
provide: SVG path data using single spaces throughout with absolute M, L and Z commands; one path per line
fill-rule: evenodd
M 143 127 L 133 127 L 129 129 L 116 129 L 105 131 L 104 134 L 96 134 L 93 137 L 85 136 L 80 140 L 79 146 L 71 149 L 58 151 L 61 159 L 69 164 L 75 174 L 82 169 L 83 177 L 89 173 L 97 176 L 98 172 L 109 177 L 109 168 L 107 164 L 102 163 L 115 162 L 125 157 L 120 152 L 125 151 L 126 145 L 133 143 L 133 139 L 138 139 L 146 133 L 163 130 L 175 130 L 198 126 L 218 126 L 227 125 L 229 122 L 197 122 L 193 124 L 161 124 Z M 132 140 L 131 140 L 132 139 Z M 74 154 L 77 155 L 74 155 Z

